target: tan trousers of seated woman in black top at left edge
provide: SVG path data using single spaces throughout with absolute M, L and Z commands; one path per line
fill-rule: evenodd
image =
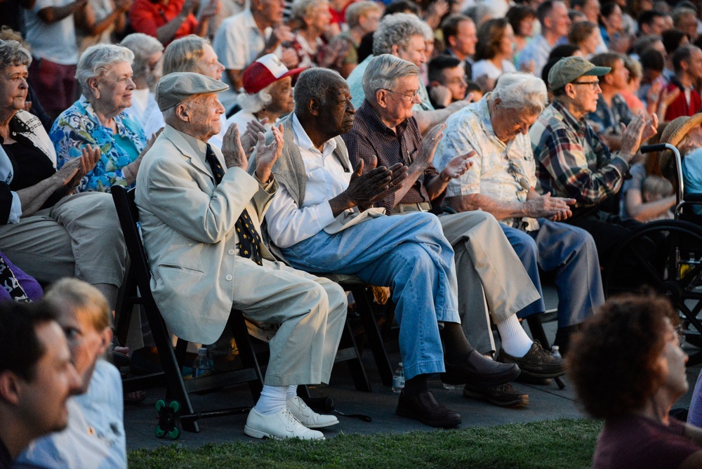
M 55 282 L 77 277 L 121 286 L 126 246 L 112 196 L 84 192 L 55 206 L 0 225 L 0 249 L 32 277 Z

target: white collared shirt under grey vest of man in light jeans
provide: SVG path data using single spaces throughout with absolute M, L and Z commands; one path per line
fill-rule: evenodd
M 333 199 L 348 187 L 352 173 L 346 172 L 343 165 L 333 155 L 336 140 L 327 140 L 319 152 L 307 136 L 298 117 L 293 114 L 293 136 L 295 145 L 305 164 L 305 199 L 298 208 L 293 197 L 283 183 L 265 214 L 268 234 L 274 244 L 287 248 L 304 241 L 324 230 L 333 223 L 329 199 Z

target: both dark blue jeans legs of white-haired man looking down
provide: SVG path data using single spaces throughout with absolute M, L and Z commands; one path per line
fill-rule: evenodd
M 585 230 L 565 223 L 540 218 L 538 225 L 538 230 L 523 232 L 501 224 L 542 297 L 538 269 L 555 271 L 558 326 L 580 324 L 592 315 L 592 308 L 604 303 L 595 241 Z M 517 315 L 527 317 L 544 310 L 541 299 L 519 310 Z

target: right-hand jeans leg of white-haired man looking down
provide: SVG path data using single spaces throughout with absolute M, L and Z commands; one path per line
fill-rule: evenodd
M 538 223 L 540 228 L 531 235 L 541 269 L 556 271 L 558 326 L 580 324 L 592 315 L 592 308 L 604 303 L 595 241 L 573 225 L 543 218 Z

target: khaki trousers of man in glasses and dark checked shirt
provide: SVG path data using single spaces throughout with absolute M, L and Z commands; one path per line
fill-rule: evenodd
M 490 213 L 446 214 L 439 221 L 454 251 L 465 336 L 481 353 L 495 350 L 490 316 L 503 321 L 538 300 L 538 291 Z

